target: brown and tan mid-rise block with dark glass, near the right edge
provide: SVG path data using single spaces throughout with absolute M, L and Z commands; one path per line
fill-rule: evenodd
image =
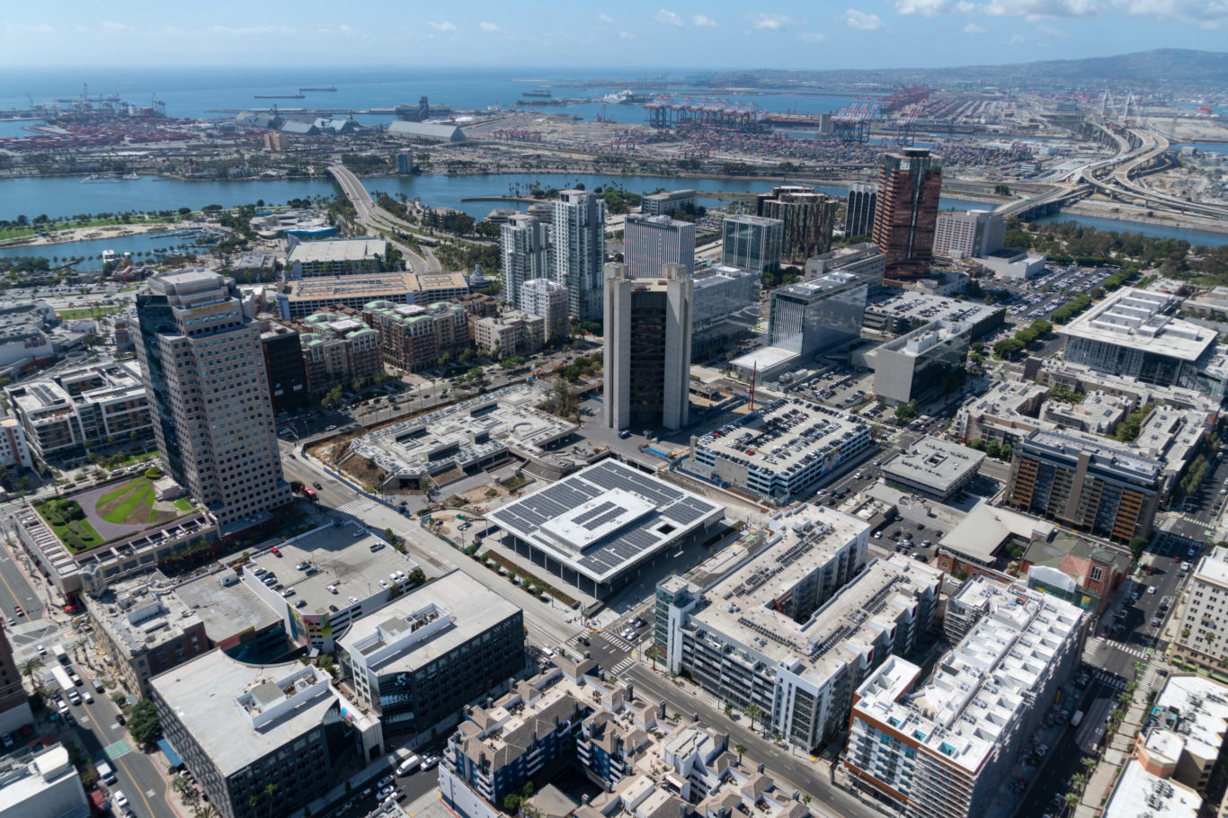
M 1149 537 L 1164 464 L 1104 440 L 1030 432 L 1014 448 L 1007 504 L 1116 543 Z

